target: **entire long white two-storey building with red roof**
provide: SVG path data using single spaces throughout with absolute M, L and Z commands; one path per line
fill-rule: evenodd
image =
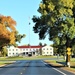
M 53 47 L 50 46 L 18 46 L 10 47 L 8 49 L 8 56 L 37 56 L 53 55 Z

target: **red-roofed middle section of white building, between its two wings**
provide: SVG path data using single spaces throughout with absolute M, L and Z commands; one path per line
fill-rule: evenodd
M 42 48 L 42 46 L 18 46 L 20 49 L 20 54 L 23 56 L 36 56 L 39 55 L 39 49 Z

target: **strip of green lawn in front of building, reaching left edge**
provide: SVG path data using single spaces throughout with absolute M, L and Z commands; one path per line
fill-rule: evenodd
M 56 57 L 55 56 L 1 57 L 0 58 L 0 66 L 6 65 L 6 64 L 11 64 L 16 60 L 38 60 L 38 59 L 44 59 L 44 58 L 56 58 Z

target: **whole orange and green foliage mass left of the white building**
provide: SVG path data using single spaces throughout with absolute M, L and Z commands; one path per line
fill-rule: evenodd
M 3 55 L 6 53 L 4 46 L 17 46 L 16 42 L 20 42 L 25 34 L 19 34 L 15 28 L 16 21 L 10 16 L 0 15 L 0 50 Z

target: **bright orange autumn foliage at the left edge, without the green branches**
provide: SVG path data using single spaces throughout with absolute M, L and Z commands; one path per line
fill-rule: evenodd
M 10 16 L 0 15 L 0 47 L 15 43 L 15 25 Z

